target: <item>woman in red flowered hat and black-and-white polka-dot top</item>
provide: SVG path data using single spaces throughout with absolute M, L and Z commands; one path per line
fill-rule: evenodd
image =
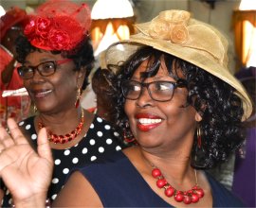
M 95 61 L 88 35 L 90 26 L 86 4 L 46 1 L 29 16 L 24 35 L 16 40 L 17 61 L 22 64 L 17 70 L 37 108 L 36 115 L 19 122 L 19 128 L 34 147 L 39 130 L 47 129 L 55 161 L 47 192 L 51 201 L 56 199 L 72 168 L 122 147 L 119 132 L 80 105 Z M 43 175 L 49 173 L 45 170 Z M 11 201 L 7 190 L 2 205 L 9 207 Z

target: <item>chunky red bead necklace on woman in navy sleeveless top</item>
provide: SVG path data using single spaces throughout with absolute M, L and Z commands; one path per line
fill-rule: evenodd
M 161 171 L 153 166 L 152 176 L 157 180 L 156 185 L 158 188 L 165 189 L 165 196 L 171 198 L 174 196 L 175 201 L 183 201 L 185 204 L 196 203 L 199 199 L 204 197 L 204 190 L 197 184 L 196 170 L 194 169 L 195 185 L 188 191 L 179 191 L 170 185 L 162 175 Z

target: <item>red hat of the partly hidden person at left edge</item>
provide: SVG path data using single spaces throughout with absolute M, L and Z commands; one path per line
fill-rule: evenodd
M 24 9 L 20 9 L 18 7 L 9 9 L 9 11 L 7 11 L 6 14 L 1 17 L 0 40 L 2 41 L 11 26 L 15 26 L 18 23 L 23 25 L 26 18 L 27 13 Z

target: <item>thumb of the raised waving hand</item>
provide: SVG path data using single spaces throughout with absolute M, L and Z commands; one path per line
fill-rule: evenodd
M 45 158 L 50 164 L 52 164 L 51 148 L 47 139 L 46 128 L 39 130 L 37 151 L 40 157 Z

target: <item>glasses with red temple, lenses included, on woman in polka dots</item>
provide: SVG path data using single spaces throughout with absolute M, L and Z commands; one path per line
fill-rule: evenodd
M 46 62 L 41 62 L 37 66 L 22 65 L 18 67 L 17 70 L 20 77 L 23 79 L 33 78 L 35 74 L 35 70 L 37 70 L 41 76 L 48 77 L 53 75 L 56 72 L 58 65 L 63 64 L 65 62 L 69 62 L 69 61 L 72 61 L 72 60 L 64 59 L 59 61 L 46 61 Z

